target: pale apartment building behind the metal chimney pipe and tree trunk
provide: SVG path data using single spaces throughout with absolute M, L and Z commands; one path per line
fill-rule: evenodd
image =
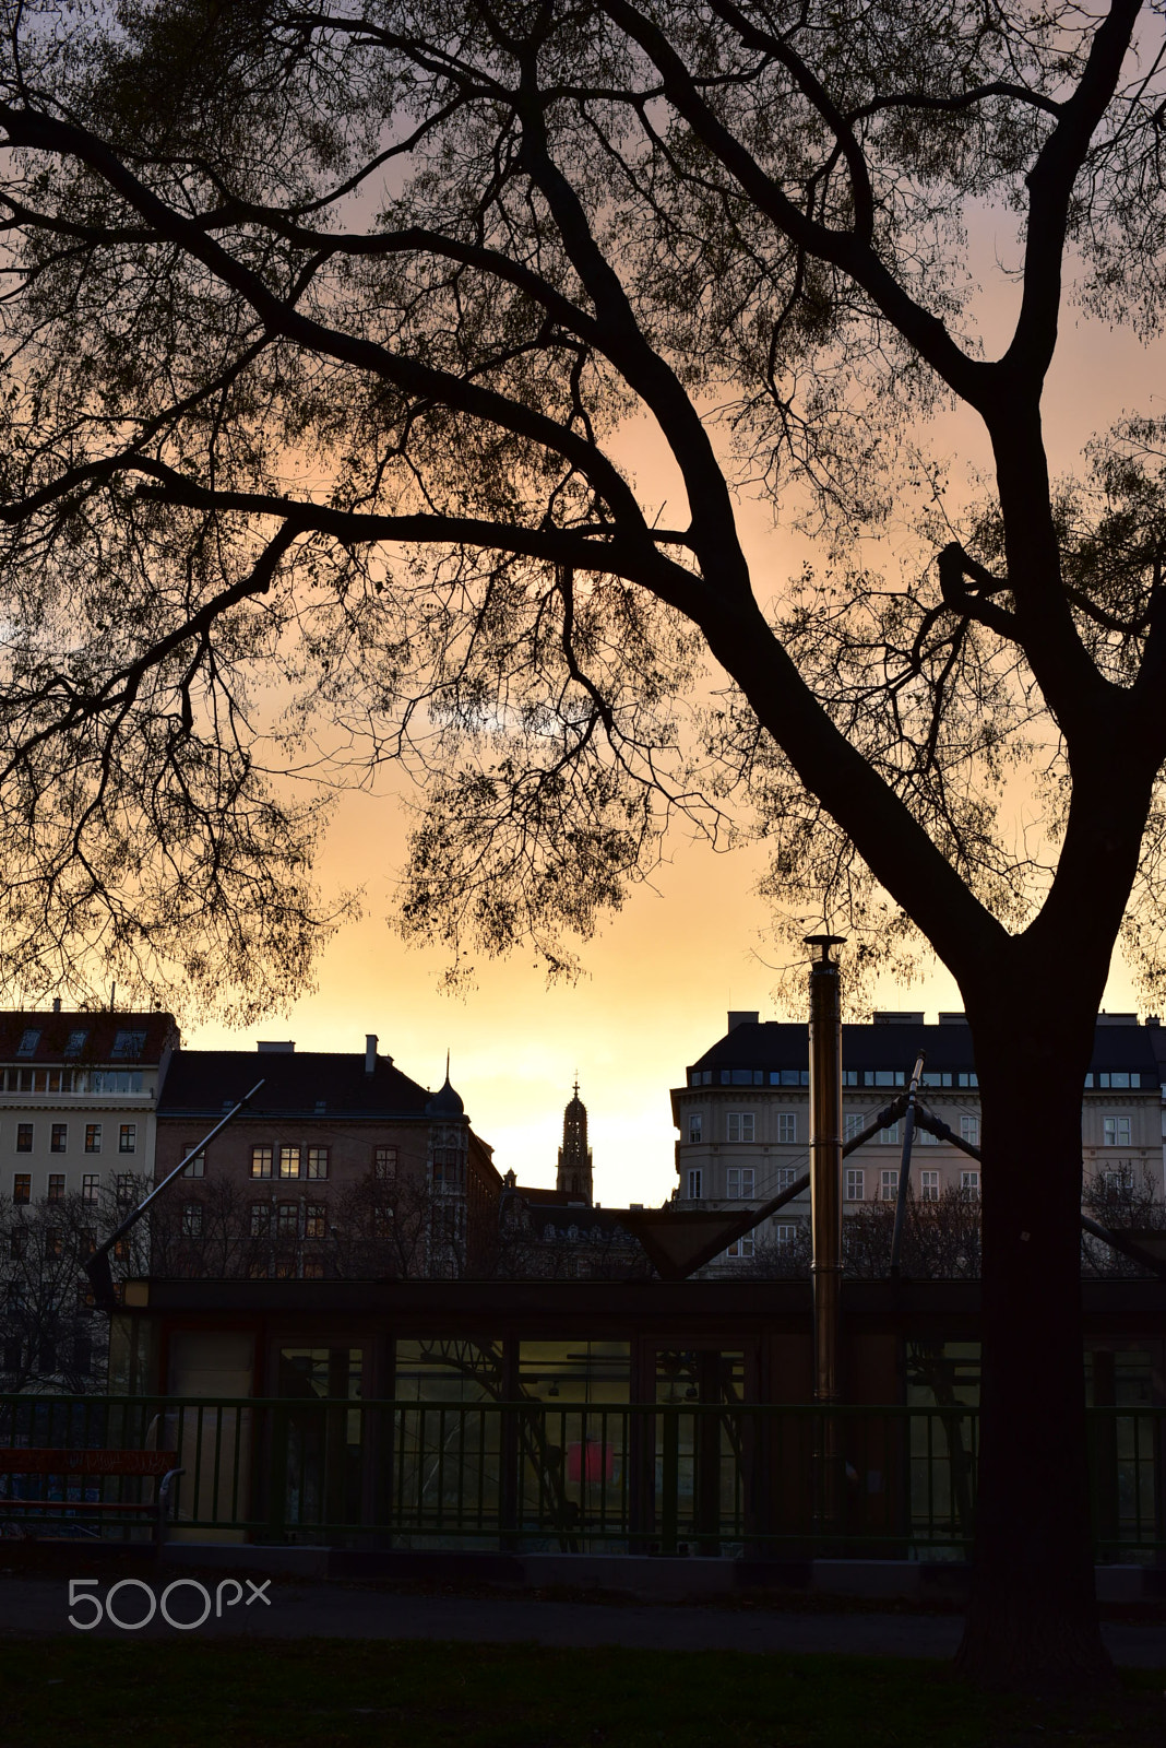
M 964 1014 L 876 1012 L 871 1024 L 841 1028 L 843 1140 L 859 1134 L 911 1080 L 918 1052 L 925 1068 L 923 1103 L 964 1140 L 979 1145 L 979 1084 L 972 1035 Z M 1159 1058 L 1163 1061 L 1159 1063 Z M 1100 1014 L 1084 1087 L 1086 1178 L 1140 1185 L 1163 1197 L 1163 1080 L 1166 1031 L 1140 1026 L 1136 1014 Z M 759 1023 L 756 1012 L 730 1012 L 728 1030 L 672 1089 L 677 1192 L 681 1206 L 761 1204 L 808 1169 L 810 1063 L 805 1024 Z M 1039 1098 L 1033 1098 L 1039 1112 Z M 897 1194 L 902 1122 L 892 1122 L 843 1162 L 843 1211 Z M 976 1161 L 951 1143 L 916 1129 L 911 1182 L 922 1201 L 944 1190 L 977 1197 Z M 759 1243 L 794 1243 L 810 1215 L 808 1192 L 731 1246 L 745 1260 Z

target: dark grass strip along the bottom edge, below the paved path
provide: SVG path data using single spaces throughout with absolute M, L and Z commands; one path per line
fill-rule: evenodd
M 0 1645 L 3 1748 L 1079 1748 L 1166 1741 L 1163 1675 L 1105 1706 L 986 1697 L 892 1657 L 391 1641 Z

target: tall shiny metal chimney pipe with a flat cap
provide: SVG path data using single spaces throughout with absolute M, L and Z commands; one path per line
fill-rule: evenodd
M 841 1400 L 841 993 L 829 949 L 843 935 L 806 935 L 820 956 L 810 967 L 810 1231 L 813 1241 L 813 1400 Z M 815 1439 L 815 1519 L 824 1531 L 841 1521 L 838 1425 L 822 1416 Z

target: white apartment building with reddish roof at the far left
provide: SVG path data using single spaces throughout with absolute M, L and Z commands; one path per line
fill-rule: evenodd
M 157 1099 L 178 1049 L 171 1014 L 0 1014 L 0 1192 L 17 1208 L 154 1168 Z

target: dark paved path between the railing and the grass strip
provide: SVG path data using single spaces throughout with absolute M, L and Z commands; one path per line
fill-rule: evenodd
M 117 1582 L 113 1578 L 112 1582 Z M 199 1613 L 194 1578 L 129 1580 L 115 1599 L 119 1615 L 134 1622 L 148 1613 L 141 1584 L 161 1598 L 173 1592 L 169 1612 L 190 1620 Z M 215 1591 L 208 1577 L 208 1589 Z M 232 1580 L 222 1580 L 232 1582 Z M 105 1598 L 110 1585 L 96 1582 Z M 719 1610 L 689 1606 L 602 1605 L 538 1598 L 417 1596 L 340 1584 L 271 1584 L 260 1598 L 230 1606 L 222 1619 L 197 1627 L 206 1638 L 351 1638 L 351 1640 L 463 1640 L 470 1643 L 627 1645 L 656 1650 L 827 1652 L 876 1657 L 951 1657 L 960 1643 L 958 1615 L 927 1613 L 787 1613 L 782 1610 Z M 87 1619 L 87 1612 L 77 1610 Z M 47 1578 L 0 1580 L 0 1631 L 9 1638 L 77 1634 L 68 1622 L 68 1582 Z M 1105 1643 L 1117 1664 L 1166 1669 L 1166 1624 L 1107 1622 Z M 101 1622 L 99 1638 L 187 1638 L 157 1613 L 140 1631 Z

